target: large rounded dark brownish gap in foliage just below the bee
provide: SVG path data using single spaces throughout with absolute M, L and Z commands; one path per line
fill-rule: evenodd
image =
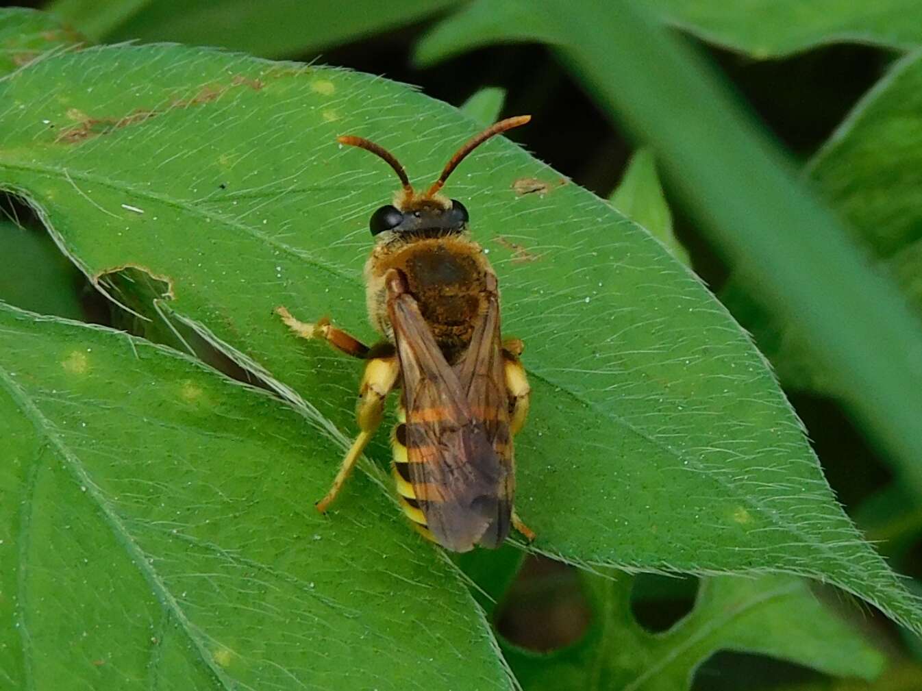
M 521 648 L 550 652 L 582 638 L 590 616 L 575 568 L 529 556 L 506 593 L 496 627 Z

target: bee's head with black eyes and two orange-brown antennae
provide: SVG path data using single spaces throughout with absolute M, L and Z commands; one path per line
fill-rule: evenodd
M 380 236 L 379 241 L 387 241 L 435 238 L 464 232 L 467 229 L 467 209 L 461 202 L 448 199 L 439 191 L 457 165 L 477 146 L 490 139 L 491 136 L 518 127 L 529 120 L 531 120 L 530 115 L 507 118 L 469 139 L 445 164 L 439 179 L 433 182 L 425 193 L 416 193 L 413 190 L 407 177 L 407 171 L 383 146 L 360 136 L 338 137 L 337 141 L 340 144 L 359 146 L 383 158 L 400 179 L 401 189 L 396 193 L 394 203 L 382 206 L 372 214 L 368 224 L 372 235 Z

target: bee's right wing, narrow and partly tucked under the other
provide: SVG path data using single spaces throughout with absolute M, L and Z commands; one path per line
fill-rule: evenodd
M 485 304 L 465 356 L 455 365 L 471 416 L 483 426 L 500 463 L 496 514 L 480 545 L 498 547 L 509 534 L 515 494 L 514 447 L 509 432 L 509 396 L 500 338 L 500 300 L 496 277 L 487 277 Z

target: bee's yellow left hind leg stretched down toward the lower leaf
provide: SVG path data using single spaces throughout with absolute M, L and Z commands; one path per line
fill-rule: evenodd
M 391 357 L 373 357 L 365 365 L 365 373 L 361 378 L 361 388 L 359 389 L 359 403 L 356 405 L 356 418 L 359 421 L 359 436 L 352 442 L 346 458 L 343 459 L 342 465 L 339 466 L 339 472 L 336 479 L 333 480 L 333 486 L 326 493 L 325 497 L 317 502 L 317 510 L 325 513 L 330 504 L 337 498 L 339 490 L 349 479 L 349 474 L 359 460 L 361 452 L 365 450 L 368 442 L 372 439 L 375 430 L 381 425 L 381 418 L 384 416 L 384 399 L 391 392 L 400 373 L 400 366 L 397 363 L 396 356 Z

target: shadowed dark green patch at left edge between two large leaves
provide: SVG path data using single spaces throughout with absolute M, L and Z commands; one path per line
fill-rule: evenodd
M 0 299 L 58 317 L 94 322 L 86 276 L 54 244 L 41 219 L 15 194 L 0 193 Z

